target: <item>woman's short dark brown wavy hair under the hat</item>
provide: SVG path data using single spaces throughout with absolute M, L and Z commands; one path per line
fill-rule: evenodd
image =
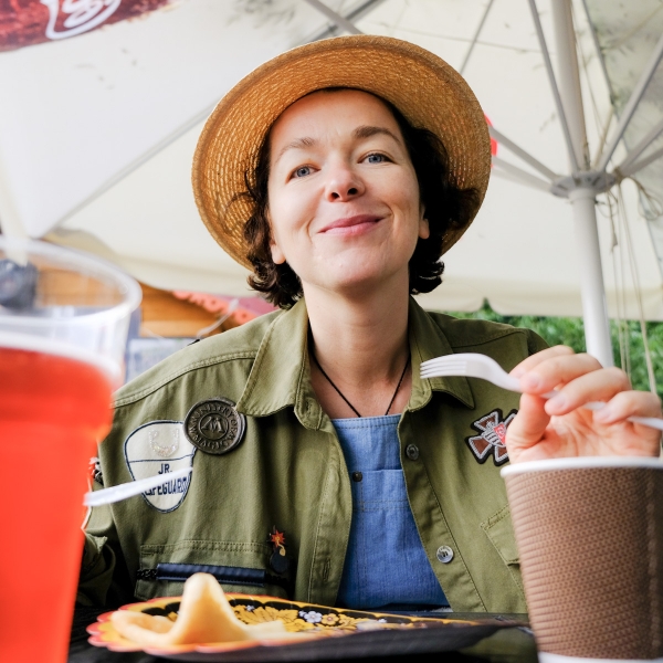
M 327 88 L 328 92 L 344 88 Z M 412 126 L 396 106 L 378 98 L 389 108 L 401 130 L 430 228 L 430 236 L 419 239 L 410 259 L 410 293 L 430 293 L 442 283 L 444 263 L 440 256 L 444 236 L 450 230 L 464 228 L 470 223 L 481 204 L 480 193 L 474 188 L 459 189 L 449 169 L 446 149 L 435 134 Z M 287 263 L 276 264 L 272 260 L 271 229 L 266 213 L 269 178 L 270 134 L 260 148 L 254 172 L 244 173 L 244 196 L 253 202 L 253 213 L 244 227 L 244 238 L 249 245 L 246 257 L 254 272 L 248 281 L 269 302 L 281 308 L 290 308 L 303 296 L 302 282 Z

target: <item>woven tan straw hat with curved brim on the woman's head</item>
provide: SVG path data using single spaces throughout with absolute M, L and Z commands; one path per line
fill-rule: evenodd
M 354 87 L 391 102 L 414 126 L 442 140 L 461 189 L 482 201 L 491 172 L 487 124 L 469 85 L 443 60 L 387 36 L 327 39 L 287 51 L 251 72 L 217 105 L 193 157 L 193 193 L 212 236 L 251 269 L 243 229 L 252 203 L 244 173 L 254 171 L 260 148 L 276 118 L 294 102 L 324 87 Z M 469 225 L 469 224 L 467 224 Z M 450 232 L 443 253 L 465 228 Z

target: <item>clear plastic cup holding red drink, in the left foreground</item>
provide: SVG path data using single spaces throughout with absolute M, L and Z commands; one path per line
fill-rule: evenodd
M 66 660 L 88 463 L 139 303 L 113 265 L 0 236 L 0 661 Z

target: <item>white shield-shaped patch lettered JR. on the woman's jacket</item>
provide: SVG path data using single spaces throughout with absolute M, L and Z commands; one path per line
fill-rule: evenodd
M 187 496 L 191 475 L 168 481 L 168 474 L 191 467 L 194 453 L 181 421 L 151 421 L 125 441 L 125 459 L 134 481 L 164 475 L 162 485 L 143 493 L 144 499 L 161 513 L 175 511 Z

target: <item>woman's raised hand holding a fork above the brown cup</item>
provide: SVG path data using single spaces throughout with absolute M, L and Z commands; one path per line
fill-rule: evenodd
M 512 376 L 520 380 L 520 410 L 508 427 L 512 462 L 544 459 L 631 455 L 659 456 L 661 432 L 627 421 L 661 417 L 661 402 L 649 391 L 633 391 L 619 368 L 601 368 L 589 355 L 556 346 L 520 362 Z M 552 391 L 549 400 L 538 394 Z M 583 403 L 603 401 L 601 410 Z

